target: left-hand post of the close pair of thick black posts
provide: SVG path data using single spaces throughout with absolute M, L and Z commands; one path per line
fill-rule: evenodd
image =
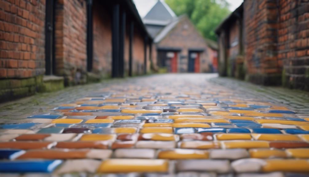
M 112 14 L 112 77 L 118 77 L 119 64 L 119 3 L 113 5 Z

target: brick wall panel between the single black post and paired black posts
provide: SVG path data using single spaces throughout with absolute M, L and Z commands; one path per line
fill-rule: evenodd
M 93 4 L 93 72 L 100 76 L 112 74 L 111 15 L 104 7 Z

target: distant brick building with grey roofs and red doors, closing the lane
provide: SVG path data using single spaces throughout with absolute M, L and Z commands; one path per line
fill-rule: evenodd
M 216 47 L 207 45 L 186 15 L 177 17 L 158 0 L 143 21 L 154 38 L 158 67 L 166 67 L 168 72 L 216 71 Z

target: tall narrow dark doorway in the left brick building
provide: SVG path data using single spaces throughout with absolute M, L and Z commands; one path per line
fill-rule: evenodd
M 45 16 L 45 75 L 55 72 L 54 14 L 55 0 L 46 0 Z

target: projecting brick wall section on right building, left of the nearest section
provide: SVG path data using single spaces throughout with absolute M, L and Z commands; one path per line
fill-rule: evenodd
M 277 59 L 277 1 L 245 0 L 245 60 L 247 79 L 278 84 L 282 63 Z

